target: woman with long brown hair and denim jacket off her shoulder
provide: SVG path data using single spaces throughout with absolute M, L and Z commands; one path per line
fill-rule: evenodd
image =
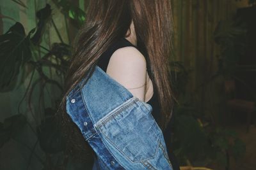
M 63 129 L 65 130 L 64 134 L 68 139 L 68 153 L 86 162 L 92 162 L 92 158 L 94 158 L 95 164 L 93 168 L 98 167 L 99 169 L 104 169 L 102 165 L 109 166 L 108 168 L 106 167 L 106 169 L 115 169 L 115 167 L 116 169 L 132 169 L 132 166 L 134 166 L 133 169 L 141 169 L 142 167 L 145 169 L 161 169 L 164 168 L 164 166 L 169 166 L 171 169 L 173 168 L 167 157 L 166 146 L 163 139 L 162 141 L 159 139 L 159 141 L 161 141 L 161 145 L 159 146 L 163 146 L 161 147 L 163 154 L 159 155 L 159 158 L 165 157 L 165 159 L 162 160 L 166 161 L 166 163 L 163 163 L 162 166 L 158 162 L 158 167 L 154 165 L 153 162 L 138 164 L 138 162 L 140 162 L 139 160 L 142 161 L 142 158 L 146 158 L 146 155 L 143 155 L 143 153 L 146 152 L 143 152 L 143 150 L 150 148 L 149 146 L 151 145 L 156 146 L 157 143 L 156 145 L 153 143 L 154 139 L 158 139 L 159 136 L 159 138 L 163 138 L 159 129 L 161 128 L 161 130 L 164 131 L 172 116 L 173 93 L 170 85 L 170 70 L 168 67 L 172 49 L 173 25 L 171 11 L 169 0 L 90 1 L 86 15 L 86 23 L 79 34 L 77 34 L 76 41 L 74 41 L 74 51 L 66 79 L 66 93 L 61 102 L 61 120 L 63 122 Z M 106 64 L 106 62 L 102 61 L 107 57 L 108 62 Z M 104 67 L 106 70 L 103 69 Z M 103 79 L 106 81 L 103 81 Z M 109 83 L 113 83 L 113 85 L 108 87 L 110 89 L 104 90 L 106 86 L 102 86 L 101 80 L 106 86 L 108 86 Z M 86 85 L 87 81 L 88 85 Z M 81 82 L 83 82 L 83 85 L 81 85 Z M 87 89 L 81 89 L 85 87 Z M 77 92 L 81 90 L 81 93 L 76 94 L 74 89 L 76 89 Z M 99 90 L 99 94 L 97 91 L 94 92 L 94 90 Z M 110 96 L 115 96 L 116 94 L 116 97 L 109 98 L 111 100 L 101 100 L 100 97 L 109 97 L 106 95 L 106 91 L 108 90 L 111 92 L 109 94 Z M 118 93 L 118 90 L 120 93 Z M 103 94 L 105 96 L 103 96 Z M 120 94 L 126 95 L 127 98 L 120 96 Z M 88 99 L 88 101 L 83 101 L 85 104 L 85 107 L 83 107 L 84 111 L 79 110 L 78 105 L 80 101 L 77 101 L 78 98 L 76 98 L 76 95 L 78 95 L 78 98 L 84 97 L 83 100 Z M 89 99 L 88 96 L 91 98 Z M 95 97 L 99 98 L 96 99 Z M 120 97 L 120 100 L 117 97 Z M 136 141 L 138 138 L 134 137 L 134 139 L 131 140 L 134 146 L 127 146 L 129 151 L 124 155 L 127 156 L 128 159 L 132 158 L 132 164 L 128 164 L 128 159 L 122 157 L 122 154 L 118 155 L 118 150 L 114 153 L 114 148 L 111 150 L 110 145 L 106 144 L 106 141 L 104 141 L 104 136 L 98 136 L 98 138 L 102 138 L 100 142 L 104 141 L 104 143 L 102 142 L 102 144 L 100 144 L 99 142 L 95 145 L 95 141 L 92 141 L 92 139 L 95 138 L 97 130 L 93 128 L 97 127 L 98 124 L 93 123 L 93 118 L 92 122 L 90 122 L 91 120 L 88 122 L 86 119 L 87 122 L 84 121 L 83 125 L 79 119 L 89 117 L 96 118 L 97 114 L 100 115 L 104 110 L 95 113 L 92 113 L 92 110 L 103 109 L 107 104 L 111 104 L 109 105 L 111 107 L 115 105 L 116 109 L 118 108 L 118 100 L 122 101 L 120 105 L 127 103 L 127 101 L 130 101 L 130 103 L 132 101 L 134 105 L 130 104 L 129 106 L 132 106 L 132 109 L 136 108 L 138 115 L 150 111 L 157 121 L 157 124 L 154 124 L 156 121 L 151 119 L 152 116 L 149 114 L 144 115 L 145 117 L 143 118 L 147 117 L 149 122 L 152 123 L 154 121 L 152 123 L 154 127 L 151 124 L 147 126 L 148 122 L 146 122 L 145 124 L 140 124 L 141 129 L 143 129 L 145 125 L 145 127 L 153 129 L 152 132 L 156 133 L 158 137 L 154 138 L 153 135 L 148 136 L 148 138 L 152 137 L 152 141 L 149 139 L 147 141 L 148 146 L 141 145 L 139 140 Z M 90 103 L 92 101 L 93 103 Z M 95 108 L 93 108 L 93 106 L 95 106 Z M 96 106 L 99 107 L 97 108 Z M 90 108 L 93 109 L 90 110 Z M 145 110 L 145 108 L 147 108 L 147 110 Z M 126 113 L 128 108 L 125 107 L 125 109 L 124 111 Z M 88 117 L 80 117 L 85 114 L 85 112 L 89 114 Z M 76 113 L 80 114 L 79 118 L 77 118 L 77 116 L 74 117 Z M 110 115 L 110 113 L 108 113 L 108 115 Z M 100 117 L 100 120 L 108 115 Z M 137 115 L 134 115 L 134 117 L 135 116 Z M 136 119 L 132 121 L 134 122 L 130 123 L 139 123 L 136 122 L 138 121 Z M 76 124 L 74 124 L 74 122 Z M 91 135 L 89 137 L 86 136 L 86 130 L 88 130 L 87 128 L 91 123 L 93 125 L 90 128 L 93 129 L 93 134 L 91 134 L 92 131 L 90 131 Z M 121 125 L 123 126 L 122 128 L 127 126 L 126 124 Z M 143 136 L 147 131 L 147 129 L 145 132 L 140 130 L 140 126 L 136 127 L 137 130 L 134 129 L 134 127 L 131 128 L 133 128 L 132 131 L 127 132 L 133 132 L 134 136 L 136 136 L 135 134 L 137 134 L 137 132 L 138 134 L 142 132 L 140 135 Z M 115 129 L 113 129 L 113 131 L 115 131 Z M 109 132 L 112 133 L 113 131 Z M 129 140 L 132 138 L 132 135 L 129 136 L 129 138 L 127 138 L 127 136 L 129 136 L 129 134 L 122 134 L 122 138 L 118 138 L 114 146 L 124 144 L 124 141 L 122 141 L 124 138 Z M 146 137 L 147 136 L 145 136 L 145 138 L 141 137 L 141 139 L 147 140 Z M 84 138 L 86 138 L 86 140 L 84 140 Z M 88 143 L 90 145 L 88 145 Z M 105 145 L 108 147 L 105 147 Z M 101 150 L 103 147 L 105 147 L 104 149 L 106 149 L 108 153 L 104 152 L 104 157 L 101 158 L 100 154 L 103 153 L 96 152 L 96 148 Z M 134 153 L 131 154 L 136 155 L 137 153 L 135 152 L 140 148 L 143 148 L 141 149 L 140 157 L 136 157 L 136 159 L 133 157 L 134 155 L 129 157 L 131 150 L 134 151 Z M 121 152 L 123 153 L 124 150 Z M 154 157 L 157 159 L 158 156 L 156 157 L 156 152 L 154 153 Z M 150 154 L 149 150 L 147 154 Z M 160 152 L 157 152 L 157 154 L 160 154 Z M 92 157 L 92 155 L 94 157 Z M 152 158 L 151 156 L 152 154 L 150 156 L 148 155 L 147 160 L 150 160 Z M 105 160 L 108 159 L 108 157 L 111 157 L 113 160 L 115 159 L 115 161 L 110 161 L 109 159 L 109 162 L 106 162 Z M 152 159 L 152 161 L 156 159 Z M 161 159 L 159 159 L 159 161 L 160 160 Z M 120 164 L 116 164 L 116 162 Z

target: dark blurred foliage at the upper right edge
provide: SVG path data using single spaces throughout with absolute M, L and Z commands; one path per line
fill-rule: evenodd
M 255 4 L 255 2 L 250 1 L 249 3 Z M 245 73 L 256 69 L 255 64 L 248 64 L 248 66 L 238 64 L 239 59 L 246 55 L 247 36 L 247 24 L 238 15 L 218 23 L 214 31 L 214 41 L 220 46 L 221 52 L 218 56 L 218 71 L 213 77 L 223 76 L 225 80 L 235 80 L 237 84 L 244 87 L 244 94 L 250 96 L 250 99 L 256 100 L 253 87 L 246 83 L 244 78 L 237 76 L 239 72 Z

